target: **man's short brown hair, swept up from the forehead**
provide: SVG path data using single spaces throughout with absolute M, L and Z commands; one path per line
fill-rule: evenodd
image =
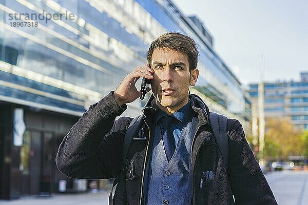
M 198 50 L 195 40 L 178 32 L 165 33 L 154 40 L 148 50 L 147 61 L 151 64 L 152 54 L 156 48 L 168 48 L 186 53 L 188 56 L 189 71 L 197 68 Z

